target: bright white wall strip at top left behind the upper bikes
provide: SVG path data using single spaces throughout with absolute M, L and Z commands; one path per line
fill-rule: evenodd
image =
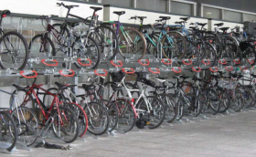
M 0 0 L 0 10 L 8 9 L 11 13 L 27 14 L 27 15 L 57 15 L 65 16 L 66 8 L 56 5 L 56 3 L 63 2 L 65 5 L 80 5 L 71 9 L 70 13 L 73 15 L 88 17 L 92 15 L 93 10 L 90 6 L 100 6 L 91 4 L 82 4 L 75 2 L 59 1 L 59 0 Z M 99 20 L 103 19 L 103 10 L 97 12 Z

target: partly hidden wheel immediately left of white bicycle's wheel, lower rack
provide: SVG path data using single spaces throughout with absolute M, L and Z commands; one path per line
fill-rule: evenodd
M 132 104 L 127 99 L 116 99 L 115 105 L 119 110 L 117 129 L 128 132 L 135 125 L 136 114 Z

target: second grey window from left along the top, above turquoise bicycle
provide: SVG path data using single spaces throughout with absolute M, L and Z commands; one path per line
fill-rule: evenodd
M 166 12 L 167 1 L 163 0 L 137 0 L 137 8 Z

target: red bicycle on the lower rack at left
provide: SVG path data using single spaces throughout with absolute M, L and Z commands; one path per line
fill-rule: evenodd
M 23 93 L 25 97 L 23 97 L 24 99 L 22 99 L 21 101 L 21 106 L 31 105 L 37 114 L 38 120 L 41 120 L 41 131 L 39 132 L 39 135 L 44 136 L 51 126 L 52 131 L 58 138 L 62 139 L 67 143 L 75 141 L 80 135 L 81 122 L 79 121 L 79 119 L 84 121 L 85 127 L 82 131 L 82 134 L 87 131 L 86 115 L 84 115 L 83 117 L 78 117 L 73 110 L 69 109 L 69 107 L 64 106 L 64 102 L 59 100 L 60 89 L 56 94 L 50 93 L 47 89 L 42 88 L 43 84 L 36 85 L 36 80 L 37 78 L 35 78 L 34 82 L 30 87 L 27 86 L 26 88 L 20 89 L 17 92 L 25 92 Z M 44 92 L 39 92 L 39 89 L 43 90 Z M 38 97 L 38 95 L 40 94 L 48 94 L 53 97 L 53 100 L 49 106 L 45 105 Z M 41 110 L 41 112 L 39 110 Z M 44 130 L 44 128 L 46 129 Z

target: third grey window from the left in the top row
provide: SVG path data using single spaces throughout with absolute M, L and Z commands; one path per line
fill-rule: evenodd
M 178 14 L 178 15 L 186 15 L 191 16 L 193 15 L 193 5 L 185 4 L 180 2 L 171 2 L 171 13 Z

